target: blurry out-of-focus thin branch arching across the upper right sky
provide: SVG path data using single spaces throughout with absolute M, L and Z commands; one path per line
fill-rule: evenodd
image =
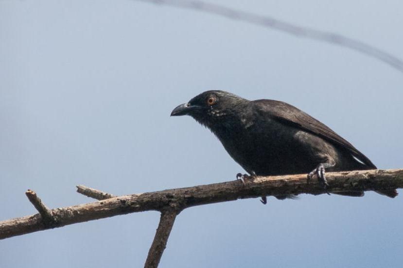
M 224 16 L 229 19 L 245 21 L 248 23 L 260 25 L 266 28 L 275 29 L 281 32 L 287 32 L 298 37 L 305 37 L 321 42 L 348 47 L 352 50 L 366 54 L 369 57 L 383 61 L 400 72 L 403 72 L 403 61 L 399 57 L 390 54 L 382 49 L 373 47 L 359 40 L 355 40 L 344 35 L 325 32 L 301 27 L 292 23 L 281 21 L 270 16 L 260 16 L 257 14 L 236 10 L 222 5 L 211 4 L 197 0 L 136 0 L 141 2 L 152 2 L 156 4 L 164 4 L 185 9 L 193 9 L 205 13 L 210 13 L 218 16 Z

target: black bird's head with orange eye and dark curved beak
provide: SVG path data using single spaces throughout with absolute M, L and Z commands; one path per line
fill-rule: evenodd
M 171 116 L 190 115 L 202 125 L 212 127 L 212 124 L 223 121 L 247 102 L 237 95 L 210 90 L 193 97 L 189 102 L 177 106 Z

